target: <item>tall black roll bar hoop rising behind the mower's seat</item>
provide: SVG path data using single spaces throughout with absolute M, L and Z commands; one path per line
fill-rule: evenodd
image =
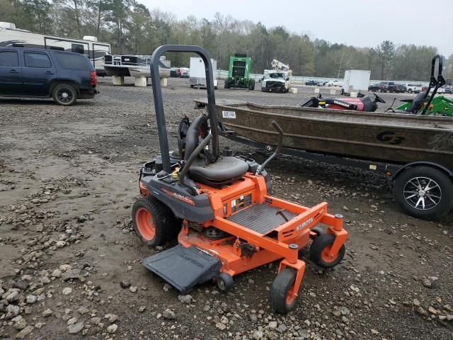
M 159 60 L 165 52 L 193 52 L 199 55 L 205 63 L 206 89 L 207 89 L 207 113 L 210 118 L 212 133 L 212 153 L 219 157 L 219 134 L 217 132 L 217 116 L 215 114 L 215 96 L 212 74 L 212 63 L 207 52 L 200 46 L 191 45 L 162 45 L 154 50 L 151 55 L 151 81 L 153 87 L 154 108 L 156 110 L 157 132 L 159 134 L 159 147 L 161 149 L 162 166 L 166 173 L 171 173 L 170 155 L 168 154 L 168 138 L 165 123 L 164 102 L 162 101 L 162 89 L 159 79 Z

